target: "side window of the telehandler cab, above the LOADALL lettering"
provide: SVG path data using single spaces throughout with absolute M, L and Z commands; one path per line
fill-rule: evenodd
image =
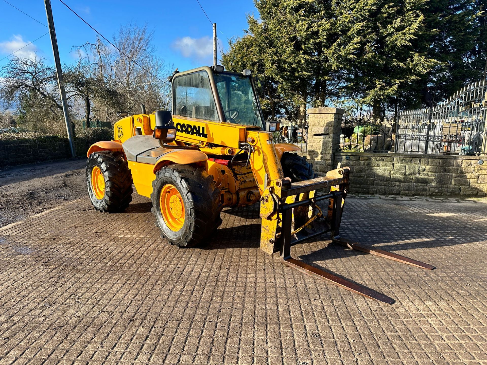
M 206 71 L 175 76 L 172 83 L 174 88 L 174 115 L 219 121 Z

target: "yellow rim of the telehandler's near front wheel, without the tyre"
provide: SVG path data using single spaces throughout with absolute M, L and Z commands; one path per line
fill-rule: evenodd
M 168 228 L 178 232 L 184 225 L 185 209 L 184 202 L 178 189 L 172 184 L 163 186 L 159 198 L 161 214 Z

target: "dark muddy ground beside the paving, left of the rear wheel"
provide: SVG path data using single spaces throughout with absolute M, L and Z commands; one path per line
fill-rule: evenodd
M 86 159 L 0 170 L 0 227 L 87 195 Z

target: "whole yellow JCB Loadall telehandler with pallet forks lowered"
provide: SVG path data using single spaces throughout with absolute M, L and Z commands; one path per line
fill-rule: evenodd
M 275 143 L 279 123 L 264 122 L 258 82 L 250 70 L 223 66 L 175 72 L 172 114 L 158 110 L 115 123 L 114 139 L 88 151 L 86 180 L 94 207 L 120 212 L 129 206 L 132 182 L 152 200 L 162 236 L 178 247 L 194 246 L 220 225 L 223 207 L 260 201 L 260 247 L 281 251 L 281 261 L 305 274 L 378 301 L 393 299 L 319 270 L 290 255 L 291 245 L 329 233 L 345 247 L 423 269 L 433 267 L 382 250 L 349 243 L 339 236 L 349 186 L 348 167 L 316 177 L 292 144 Z M 317 190 L 324 191 L 315 195 Z M 324 211 L 319 201 L 328 201 Z

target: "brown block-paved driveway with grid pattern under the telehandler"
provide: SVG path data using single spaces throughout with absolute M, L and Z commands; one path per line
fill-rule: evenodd
M 433 271 L 314 239 L 295 257 L 396 299 L 380 304 L 258 249 L 258 207 L 205 247 L 159 237 L 150 201 L 88 198 L 0 229 L 1 364 L 487 364 L 487 205 L 351 197 L 345 236 Z M 324 237 L 322 237 L 324 238 Z

